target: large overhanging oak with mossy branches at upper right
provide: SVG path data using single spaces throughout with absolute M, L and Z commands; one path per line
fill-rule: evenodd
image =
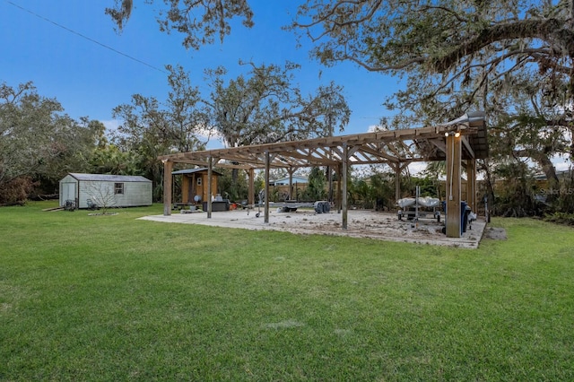
M 400 112 L 392 126 L 483 109 L 494 156 L 531 160 L 556 181 L 552 157 L 574 153 L 573 26 L 572 0 L 308 0 L 290 28 L 325 65 L 404 76 L 386 102 Z

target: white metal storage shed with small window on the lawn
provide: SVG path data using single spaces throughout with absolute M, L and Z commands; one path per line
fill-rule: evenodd
M 60 205 L 109 207 L 152 205 L 152 181 L 140 176 L 69 173 L 60 180 Z

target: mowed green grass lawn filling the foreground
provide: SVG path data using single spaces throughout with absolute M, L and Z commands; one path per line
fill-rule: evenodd
M 574 230 L 477 250 L 0 209 L 0 380 L 574 380 Z

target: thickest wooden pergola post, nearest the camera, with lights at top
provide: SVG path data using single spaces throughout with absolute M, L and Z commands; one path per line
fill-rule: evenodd
M 460 238 L 461 226 L 461 154 L 460 137 L 447 136 L 447 237 Z

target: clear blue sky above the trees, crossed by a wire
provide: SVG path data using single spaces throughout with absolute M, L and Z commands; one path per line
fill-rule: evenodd
M 55 97 L 71 117 L 88 116 L 114 126 L 117 121 L 112 120 L 112 109 L 129 103 L 132 94 L 165 99 L 167 74 L 148 65 L 161 70 L 168 64 L 182 65 L 207 96 L 205 68 L 223 65 L 235 77 L 247 69 L 239 66 L 239 59 L 257 65 L 283 65 L 291 60 L 302 65 L 296 72 L 297 82 L 306 93 L 330 81 L 344 86 L 352 117 L 343 134 L 367 132 L 380 117 L 392 115 L 381 103 L 398 89 L 398 78 L 369 73 L 351 63 L 327 68 L 309 59 L 309 45 L 296 48 L 295 36 L 281 27 L 290 22 L 289 13 L 295 11 L 298 2 L 250 0 L 255 26 L 248 30 L 234 22 L 231 35 L 222 44 L 218 41 L 199 51 L 186 50 L 181 35 L 158 30 L 154 9 L 162 1 L 156 0 L 154 5 L 135 1 L 135 11 L 121 34 L 104 14 L 105 7 L 113 3 L 0 0 L 0 82 L 11 86 L 34 82 L 39 94 Z

